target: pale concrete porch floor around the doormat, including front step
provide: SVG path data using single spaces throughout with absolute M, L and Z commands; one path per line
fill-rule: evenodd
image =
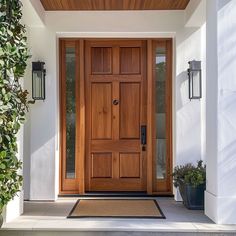
M 25 202 L 24 214 L 4 224 L 0 235 L 236 235 L 236 225 L 214 224 L 203 211 L 188 210 L 173 198 L 156 199 L 166 219 L 67 219 L 77 198 Z

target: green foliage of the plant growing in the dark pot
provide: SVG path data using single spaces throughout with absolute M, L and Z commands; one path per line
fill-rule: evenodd
M 174 186 L 179 187 L 181 184 L 189 184 L 197 187 L 206 183 L 206 166 L 200 160 L 197 166 L 191 163 L 176 166 L 172 174 L 174 179 Z

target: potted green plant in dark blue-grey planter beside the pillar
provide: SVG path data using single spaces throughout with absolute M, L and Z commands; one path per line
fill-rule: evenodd
M 198 161 L 197 166 L 191 163 L 176 166 L 172 176 L 183 204 L 191 210 L 203 210 L 206 189 L 206 166 L 203 161 Z

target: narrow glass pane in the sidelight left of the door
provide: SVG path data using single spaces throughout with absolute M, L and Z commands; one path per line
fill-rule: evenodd
M 66 178 L 75 178 L 75 48 L 66 48 Z

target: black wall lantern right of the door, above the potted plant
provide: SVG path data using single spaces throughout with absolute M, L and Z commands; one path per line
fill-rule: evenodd
M 202 69 L 201 61 L 189 61 L 189 99 L 202 98 Z

